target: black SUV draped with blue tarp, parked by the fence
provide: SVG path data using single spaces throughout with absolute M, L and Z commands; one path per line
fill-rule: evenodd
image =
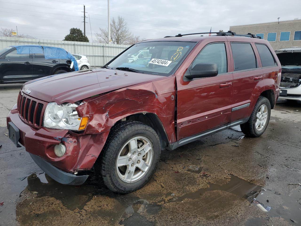
M 0 50 L 0 83 L 25 83 L 74 71 L 70 65 L 69 59 L 45 59 L 44 53 L 18 54 L 14 46 L 9 46 Z

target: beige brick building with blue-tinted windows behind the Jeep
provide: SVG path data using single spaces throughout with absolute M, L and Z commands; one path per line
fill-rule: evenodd
M 237 34 L 252 33 L 268 40 L 274 50 L 301 46 L 301 20 L 276 21 L 262 24 L 248 24 L 230 26 L 230 30 Z

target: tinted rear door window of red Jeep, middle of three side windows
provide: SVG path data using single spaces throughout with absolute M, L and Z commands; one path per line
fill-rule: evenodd
M 256 58 L 250 43 L 231 43 L 234 71 L 256 68 Z

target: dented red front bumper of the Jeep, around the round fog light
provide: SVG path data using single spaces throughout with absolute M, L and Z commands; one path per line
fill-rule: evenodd
M 39 156 L 45 162 L 67 173 L 91 169 L 110 131 L 84 135 L 68 130 L 44 127 L 37 129 L 20 119 L 17 104 L 8 113 L 7 123 L 9 122 L 18 128 L 20 133 L 18 143 L 23 145 L 27 152 Z M 54 146 L 60 143 L 66 146 L 66 153 L 62 157 L 57 157 L 54 154 Z

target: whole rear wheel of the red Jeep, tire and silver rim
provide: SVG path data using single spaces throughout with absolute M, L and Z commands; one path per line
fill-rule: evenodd
M 260 111 L 262 111 L 262 108 L 264 108 L 264 112 L 266 112 L 267 114 L 261 114 L 260 112 L 258 112 L 259 109 Z M 259 118 L 257 118 L 257 113 L 259 113 Z M 264 96 L 259 96 L 249 120 L 246 123 L 241 124 L 240 129 L 249 137 L 260 137 L 268 127 L 270 116 L 271 104 L 269 100 Z M 257 122 L 258 124 L 256 124 Z

